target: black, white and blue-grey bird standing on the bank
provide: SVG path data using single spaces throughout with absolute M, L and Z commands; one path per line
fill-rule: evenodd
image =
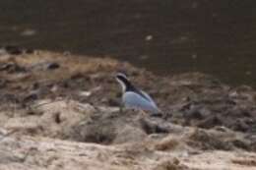
M 125 74 L 117 73 L 115 79 L 122 87 L 122 103 L 125 108 L 150 111 L 154 115 L 161 113 L 152 97 L 132 85 Z

